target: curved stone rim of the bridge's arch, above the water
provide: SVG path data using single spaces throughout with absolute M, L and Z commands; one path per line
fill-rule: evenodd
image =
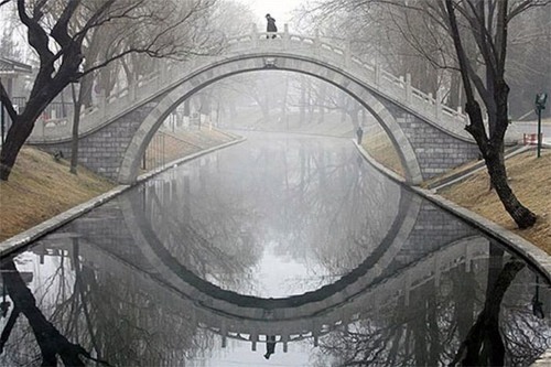
M 267 64 L 267 60 L 273 61 L 276 63 L 276 68 L 271 66 L 271 64 Z M 162 97 L 159 105 L 148 115 L 133 136 L 120 165 L 119 182 L 131 183 L 136 180 L 140 156 L 142 156 L 145 151 L 153 133 L 164 118 L 184 99 L 223 78 L 240 73 L 267 68 L 298 72 L 314 76 L 349 94 L 368 109 L 387 131 L 406 169 L 407 181 L 410 183 L 420 183 L 423 180 L 420 163 L 418 162 L 412 145 L 392 114 L 378 97 L 375 96 L 374 90 L 369 89 L 358 77 L 354 77 L 345 69 L 335 66 L 335 64 L 328 60 L 323 60 L 323 57 L 301 56 L 300 53 L 296 52 L 285 53 L 280 51 L 261 54 L 245 53 L 238 56 L 212 62 L 194 74 L 191 74 L 190 77 L 185 78 L 177 87 Z

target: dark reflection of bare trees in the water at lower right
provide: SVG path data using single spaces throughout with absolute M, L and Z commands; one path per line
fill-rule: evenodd
M 504 304 L 525 265 L 512 260 L 497 267 L 503 251 L 491 252 L 496 257 L 485 279 L 458 265 L 442 274 L 440 284 L 415 285 L 409 301 L 399 296 L 382 303 L 376 313 L 322 339 L 324 358 L 333 357 L 333 366 L 529 365 L 549 347 L 548 325 L 530 314 L 526 288 L 515 288 L 511 304 Z M 500 312 L 507 323 L 500 322 Z

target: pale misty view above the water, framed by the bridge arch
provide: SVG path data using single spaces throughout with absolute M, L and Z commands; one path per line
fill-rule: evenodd
M 203 88 L 185 102 L 188 106 L 184 109 L 181 105 L 176 109 L 177 119 L 171 116 L 165 128 L 175 120 L 182 125 L 183 111 L 190 116 L 185 120 L 190 126 L 197 125 L 201 114 L 201 123 L 216 121 L 222 129 L 266 128 L 279 132 L 299 129 L 352 138 L 358 125 L 379 127 L 370 112 L 346 93 L 321 78 L 295 72 L 266 69 L 237 74 Z

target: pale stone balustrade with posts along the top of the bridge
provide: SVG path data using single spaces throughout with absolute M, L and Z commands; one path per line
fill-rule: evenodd
M 190 75 L 201 73 L 209 63 L 223 61 L 228 55 L 262 56 L 277 55 L 302 57 L 311 61 L 324 61 L 339 68 L 341 72 L 363 84 L 374 93 L 402 106 L 404 109 L 423 118 L 429 123 L 449 133 L 469 139 L 464 131 L 466 121 L 461 108 L 454 110 L 442 105 L 442 94 L 423 93 L 412 87 L 410 75 L 396 77 L 378 65 L 366 63 L 353 56 L 349 43 L 335 46 L 320 36 L 306 36 L 289 33 L 285 24 L 284 32 L 278 33 L 277 39 L 267 39 L 266 32 L 231 37 L 227 40 L 222 56 L 195 57 L 188 62 L 164 62 L 158 64 L 158 71 L 130 83 L 128 87 L 108 97 L 99 95 L 97 106 L 83 111 L 80 132 L 87 133 L 107 125 L 126 112 L 143 105 L 152 98 L 182 84 Z M 47 129 L 37 122 L 31 137 L 32 141 L 48 141 L 71 137 L 69 123 L 57 125 L 55 129 Z

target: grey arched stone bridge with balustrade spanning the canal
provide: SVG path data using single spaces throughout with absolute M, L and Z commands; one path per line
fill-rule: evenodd
M 140 160 L 162 121 L 183 100 L 226 77 L 255 71 L 288 71 L 327 82 L 358 100 L 386 130 L 409 183 L 474 159 L 478 149 L 464 130 L 461 110 L 441 104 L 441 94 L 424 94 L 411 78 L 396 77 L 354 56 L 346 45 L 291 34 L 277 39 L 252 33 L 227 41 L 216 56 L 186 63 L 164 62 L 148 79 L 101 101 L 80 122 L 80 162 L 120 183 L 132 183 Z M 50 151 L 69 150 L 71 125 L 37 122 L 29 142 Z

